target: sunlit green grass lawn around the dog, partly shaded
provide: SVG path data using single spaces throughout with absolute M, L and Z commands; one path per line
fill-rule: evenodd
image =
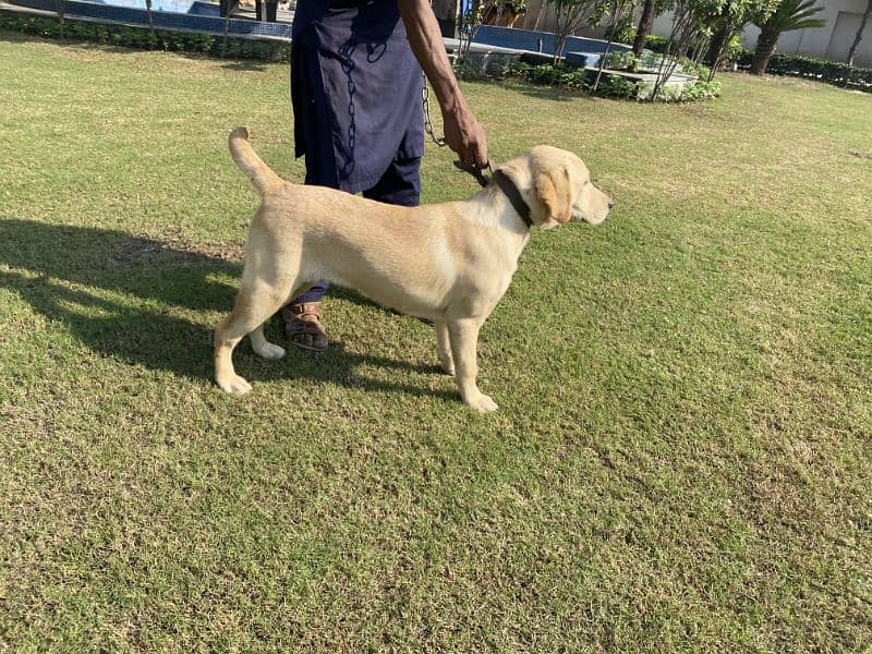
M 329 352 L 214 386 L 226 138 L 302 178 L 286 66 L 0 34 L 0 650 L 868 652 L 872 96 L 722 78 L 464 85 L 495 160 L 618 201 L 533 234 L 480 416 L 349 291 Z M 451 159 L 425 202 L 475 191 Z

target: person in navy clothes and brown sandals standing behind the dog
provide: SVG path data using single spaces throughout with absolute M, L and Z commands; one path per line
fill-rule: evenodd
M 486 165 L 484 130 L 460 92 L 427 0 L 298 0 L 291 101 L 305 183 L 417 206 L 422 69 L 439 104 L 446 145 L 465 164 Z M 328 347 L 327 288 L 318 282 L 282 308 L 286 335 L 298 348 Z

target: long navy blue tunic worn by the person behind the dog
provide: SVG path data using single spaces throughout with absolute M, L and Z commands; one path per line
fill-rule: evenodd
M 306 183 L 358 193 L 424 154 L 422 72 L 396 0 L 299 0 L 291 98 Z

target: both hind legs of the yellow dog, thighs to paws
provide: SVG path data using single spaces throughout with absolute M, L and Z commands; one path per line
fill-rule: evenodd
M 254 351 L 267 359 L 279 359 L 284 350 L 266 340 L 264 323 L 288 301 L 292 284 L 269 284 L 256 280 L 243 281 L 233 311 L 215 329 L 215 380 L 221 389 L 234 395 L 249 392 L 252 387 L 233 370 L 233 349 L 246 335 L 252 335 Z

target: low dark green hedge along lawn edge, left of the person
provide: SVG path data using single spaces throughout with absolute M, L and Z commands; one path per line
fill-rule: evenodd
M 266 61 L 288 61 L 290 46 L 278 41 L 261 41 L 230 36 L 196 32 L 174 32 L 148 27 L 130 27 L 85 21 L 43 16 L 22 16 L 0 11 L 0 29 L 23 32 L 45 38 L 66 38 L 89 43 L 136 48 L 145 50 L 167 50 L 175 52 L 202 53 L 210 57 L 231 57 L 233 59 L 259 59 Z

